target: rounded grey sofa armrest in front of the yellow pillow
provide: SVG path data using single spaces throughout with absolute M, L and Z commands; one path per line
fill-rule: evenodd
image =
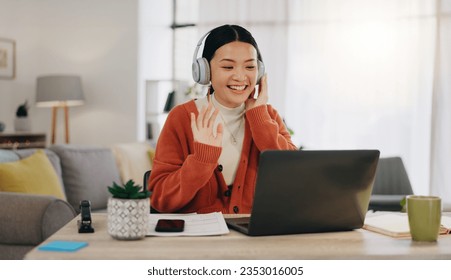
M 36 246 L 75 217 L 74 209 L 53 196 L 2 192 L 0 244 Z M 16 258 L 4 255 L 1 258 Z

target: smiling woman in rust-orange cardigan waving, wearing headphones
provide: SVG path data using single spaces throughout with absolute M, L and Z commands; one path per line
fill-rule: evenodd
M 264 66 L 249 31 L 223 25 L 205 36 L 193 77 L 211 82 L 209 94 L 169 113 L 149 179 L 151 205 L 165 213 L 250 213 L 260 152 L 297 148 L 266 104 Z

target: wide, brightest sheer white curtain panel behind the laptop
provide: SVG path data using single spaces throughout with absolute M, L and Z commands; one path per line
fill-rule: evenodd
M 429 186 L 435 2 L 290 2 L 287 121 L 307 149 L 401 156 Z

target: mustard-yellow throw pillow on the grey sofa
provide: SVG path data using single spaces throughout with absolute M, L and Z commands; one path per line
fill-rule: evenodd
M 65 199 L 58 175 L 42 150 L 18 161 L 0 163 L 0 191 Z

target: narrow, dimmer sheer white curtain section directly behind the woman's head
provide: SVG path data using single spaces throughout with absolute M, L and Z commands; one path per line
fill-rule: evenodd
M 199 37 L 223 24 L 248 29 L 257 41 L 268 73 L 270 102 L 284 109 L 287 88 L 287 0 L 199 0 Z

